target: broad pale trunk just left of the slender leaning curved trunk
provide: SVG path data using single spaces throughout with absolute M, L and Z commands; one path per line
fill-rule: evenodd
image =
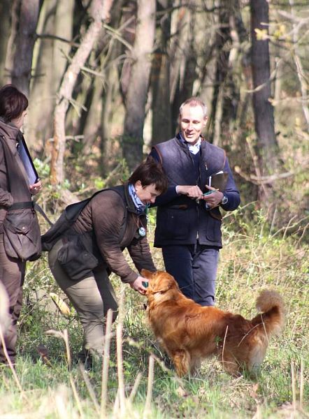
M 56 93 L 64 75 L 73 29 L 73 0 L 44 1 L 38 21 L 38 41 L 34 48 L 26 135 L 29 145 L 41 151 L 52 136 L 52 112 Z M 42 117 L 44 115 L 44 117 Z

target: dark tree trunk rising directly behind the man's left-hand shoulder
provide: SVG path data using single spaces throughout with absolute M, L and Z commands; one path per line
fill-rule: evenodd
M 171 10 L 171 0 L 158 1 L 158 11 Z M 169 43 L 171 38 L 171 11 L 160 19 L 157 28 L 159 47 L 152 59 L 152 145 L 171 138 Z

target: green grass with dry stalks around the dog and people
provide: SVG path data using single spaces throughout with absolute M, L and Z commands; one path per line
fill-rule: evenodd
M 220 252 L 217 274 L 217 306 L 250 318 L 262 288 L 275 288 L 285 299 L 287 324 L 273 339 L 258 376 L 233 378 L 222 371 L 214 358 L 203 362 L 199 374 L 175 376 L 171 362 L 161 351 L 145 321 L 143 302 L 128 286 L 112 277 L 123 314 L 123 372 L 127 401 L 119 411 L 116 341 L 110 348 L 107 412 L 110 418 L 308 418 L 308 254 L 299 236 L 268 235 L 263 220 L 251 226 L 240 225 L 238 214 L 227 225 L 237 223 L 238 233 L 224 228 L 224 249 Z M 153 227 L 150 228 L 151 233 Z M 161 252 L 152 249 L 157 267 Z M 45 297 L 34 297 L 33 289 L 43 289 Z M 17 378 L 8 368 L 0 369 L 0 418 L 99 418 L 101 365 L 85 378 L 75 355 L 82 345 L 82 331 L 76 314 L 69 318 L 54 310 L 48 297 L 59 292 L 50 277 L 46 260 L 29 264 L 25 295 L 30 295 L 20 319 Z M 43 294 L 43 295 L 44 295 Z M 46 296 L 47 295 L 47 296 Z M 124 298 L 122 298 L 124 295 Z M 121 317 L 121 316 L 120 316 Z M 71 369 L 66 362 L 63 339 L 45 335 L 46 330 L 69 331 L 73 354 Z M 115 330 L 115 325 L 113 326 Z M 49 365 L 36 351 L 43 344 Z M 150 355 L 155 356 L 150 374 L 151 404 L 148 394 Z M 141 373 L 136 395 L 128 401 L 136 377 Z M 293 376 L 293 378 L 292 378 Z M 73 384 L 72 384 L 73 383 Z M 75 392 L 75 393 L 74 393 Z M 149 394 L 148 394 L 148 399 Z M 300 405 L 300 399 L 302 404 Z

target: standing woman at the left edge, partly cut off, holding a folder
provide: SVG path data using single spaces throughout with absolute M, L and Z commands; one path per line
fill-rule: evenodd
M 12 323 L 4 341 L 12 363 L 15 362 L 16 323 L 22 307 L 22 284 L 27 259 L 20 258 L 17 254 L 12 256 L 13 249 L 8 251 L 5 228 L 8 215 L 12 214 L 16 218 L 27 212 L 31 220 L 37 222 L 31 196 L 42 187 L 20 131 L 27 108 L 27 97 L 16 87 L 6 84 L 0 89 L 0 282 L 9 297 Z M 0 341 L 0 363 L 7 362 Z

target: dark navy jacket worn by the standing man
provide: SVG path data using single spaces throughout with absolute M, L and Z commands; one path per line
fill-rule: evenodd
M 157 197 L 157 227 L 155 230 L 155 247 L 171 244 L 200 244 L 221 248 L 221 214 L 219 207 L 206 210 L 203 200 L 196 200 L 185 195 L 178 195 L 177 185 L 198 185 L 206 192 L 210 176 L 223 170 L 228 173 L 224 196 L 228 202 L 222 205 L 226 211 L 235 210 L 240 203 L 240 196 L 233 180 L 229 162 L 220 147 L 201 141 L 198 166 L 194 166 L 195 157 L 189 152 L 187 143 L 178 135 L 171 140 L 161 142 L 152 148 L 150 153 L 161 161 L 168 177 L 168 191 Z

